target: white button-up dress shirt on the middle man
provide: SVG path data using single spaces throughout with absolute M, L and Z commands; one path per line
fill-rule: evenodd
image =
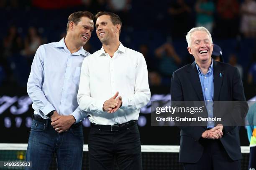
M 122 106 L 114 113 L 104 112 L 104 102 L 116 92 Z M 91 122 L 114 125 L 138 120 L 140 108 L 149 100 L 147 65 L 141 53 L 120 43 L 112 58 L 102 47 L 84 59 L 77 101 L 81 110 L 90 112 Z

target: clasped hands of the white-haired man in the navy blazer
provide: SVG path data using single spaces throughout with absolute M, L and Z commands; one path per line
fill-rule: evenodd
M 223 125 L 218 124 L 214 128 L 210 130 L 205 130 L 204 133 L 202 133 L 202 138 L 205 139 L 219 139 L 223 136 Z

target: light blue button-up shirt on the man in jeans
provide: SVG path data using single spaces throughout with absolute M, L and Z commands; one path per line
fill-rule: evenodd
M 83 47 L 71 54 L 64 38 L 38 48 L 27 86 L 34 114 L 46 119 L 56 110 L 60 115 L 73 115 L 76 123 L 86 117 L 87 113 L 79 110 L 77 92 L 81 65 L 88 55 Z

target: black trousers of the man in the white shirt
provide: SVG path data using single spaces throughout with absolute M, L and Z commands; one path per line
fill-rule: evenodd
M 141 139 L 138 126 L 111 132 L 90 129 L 88 138 L 90 170 L 142 170 Z

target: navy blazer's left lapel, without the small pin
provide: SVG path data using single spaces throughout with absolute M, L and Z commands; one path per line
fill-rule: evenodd
M 197 96 L 200 101 L 204 101 L 203 93 L 202 93 L 202 86 L 200 82 L 200 78 L 197 72 L 197 67 L 195 64 L 195 61 L 191 64 L 191 69 L 189 70 L 190 73 L 190 81 L 193 87 L 195 88 L 195 91 L 197 93 Z

